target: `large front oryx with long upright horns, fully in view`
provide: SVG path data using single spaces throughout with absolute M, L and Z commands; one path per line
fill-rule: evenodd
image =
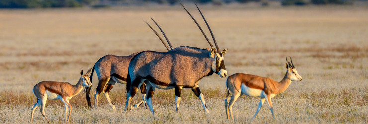
M 190 15 L 189 12 L 188 14 Z M 203 17 L 202 13 L 201 15 Z M 203 33 L 195 19 L 193 17 L 192 19 Z M 203 19 L 205 20 L 204 17 Z M 207 21 L 205 22 L 208 26 Z M 221 77 L 227 76 L 223 60 L 223 55 L 227 49 L 220 51 L 210 28 L 209 31 L 217 50 L 213 47 L 211 49 L 199 49 L 182 46 L 168 52 L 143 51 L 137 54 L 130 61 L 128 68 L 125 111 L 129 109 L 129 103 L 137 93 L 138 87 L 145 83 L 147 87 L 145 100 L 152 114 L 155 114 L 152 107 L 152 96 L 155 88 L 175 89 L 176 112 L 178 112 L 182 88 L 191 88 L 194 94 L 201 100 L 205 112 L 209 113 L 204 96 L 198 86 L 199 80 L 213 73 L 217 73 Z M 205 38 L 208 39 L 206 36 Z M 213 46 L 209 40 L 208 43 L 210 46 Z

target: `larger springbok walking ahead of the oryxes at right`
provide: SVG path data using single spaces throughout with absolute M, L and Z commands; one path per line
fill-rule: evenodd
M 292 60 L 290 63 L 287 61 L 286 57 L 286 62 L 287 62 L 286 74 L 280 82 L 276 82 L 275 80 L 270 78 L 243 73 L 236 73 L 229 76 L 226 80 L 227 98 L 225 99 L 225 110 L 227 118 L 229 120 L 230 118 L 234 119 L 232 107 L 235 101 L 241 95 L 261 98 L 260 103 L 258 104 L 256 114 L 254 114 L 253 116 L 253 119 L 260 111 L 262 104 L 265 102 L 265 100 L 269 104 L 272 117 L 274 118 L 274 109 L 272 106 L 271 98 L 285 91 L 287 87 L 291 84 L 291 81 L 299 82 L 302 80 L 302 77 L 298 74 L 298 71 L 296 71 L 295 66 L 292 63 Z M 232 96 L 230 96 L 230 92 Z

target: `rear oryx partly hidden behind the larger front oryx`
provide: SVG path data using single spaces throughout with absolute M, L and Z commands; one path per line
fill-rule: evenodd
M 152 19 L 153 20 L 153 19 Z M 144 20 L 143 20 L 144 21 Z M 153 20 L 154 21 L 154 20 Z M 146 21 L 144 21 L 146 22 Z M 155 21 L 154 21 L 155 22 Z M 163 35 L 165 36 L 166 41 L 168 42 L 169 46 L 164 42 L 164 40 L 160 37 L 159 34 L 146 22 L 146 24 L 152 29 L 152 31 L 159 37 L 161 42 L 164 44 L 166 49 L 169 51 L 173 49 L 169 39 L 166 37 L 165 33 L 162 31 L 161 27 L 155 22 L 155 24 L 159 27 Z M 98 86 L 94 92 L 94 102 L 95 107 L 98 106 L 98 97 L 101 92 L 105 95 L 108 103 L 111 105 L 113 110 L 116 110 L 114 103 L 111 101 L 109 92 L 114 87 L 115 83 L 126 83 L 126 76 L 128 75 L 128 65 L 130 60 L 137 55 L 137 53 L 133 53 L 128 56 L 116 56 L 116 55 L 105 55 L 100 58 L 93 66 L 92 73 L 90 76 L 91 82 L 93 78 L 93 72 L 96 70 L 96 74 L 98 76 Z M 144 97 L 146 96 L 146 86 L 143 84 L 141 87 L 141 93 L 143 100 L 138 104 L 132 106 L 132 108 L 139 107 L 142 103 L 145 103 Z M 90 90 L 91 87 L 86 87 L 86 100 L 89 107 L 91 105 L 90 99 Z

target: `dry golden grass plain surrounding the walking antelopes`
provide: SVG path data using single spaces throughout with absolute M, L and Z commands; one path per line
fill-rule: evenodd
M 195 6 L 187 6 L 210 36 Z M 254 123 L 368 123 L 367 7 L 200 7 L 220 49 L 228 49 L 228 75 L 279 81 L 286 72 L 285 57 L 291 56 L 303 77 L 272 99 L 275 119 L 265 103 Z M 180 6 L 0 10 L 0 123 L 29 123 L 30 106 L 36 103 L 32 88 L 40 81 L 76 84 L 81 69 L 86 72 L 106 54 L 166 51 L 142 20 L 154 26 L 151 17 L 174 47 L 209 47 Z M 70 122 L 249 123 L 259 98 L 240 97 L 233 106 L 235 121 L 227 121 L 225 80 L 213 74 L 199 83 L 209 114 L 190 89 L 183 89 L 179 113 L 173 89 L 156 90 L 156 115 L 144 107 L 125 112 L 125 84 L 116 84 L 110 93 L 116 111 L 102 94 L 99 107 L 88 108 L 81 92 L 70 100 Z M 97 83 L 95 74 L 92 98 Z M 139 94 L 133 103 L 142 99 Z M 45 113 L 51 123 L 64 122 L 61 101 L 48 101 Z M 39 110 L 33 122 L 46 123 Z

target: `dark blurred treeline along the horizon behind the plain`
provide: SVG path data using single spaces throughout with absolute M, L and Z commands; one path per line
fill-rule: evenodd
M 353 0 L 276 0 L 282 5 L 307 4 L 351 4 Z M 228 3 L 260 2 L 267 6 L 268 0 L 0 0 L 0 8 L 63 8 L 63 7 L 108 7 L 142 5 L 146 3 L 176 5 L 179 2 L 212 3 L 223 5 Z

